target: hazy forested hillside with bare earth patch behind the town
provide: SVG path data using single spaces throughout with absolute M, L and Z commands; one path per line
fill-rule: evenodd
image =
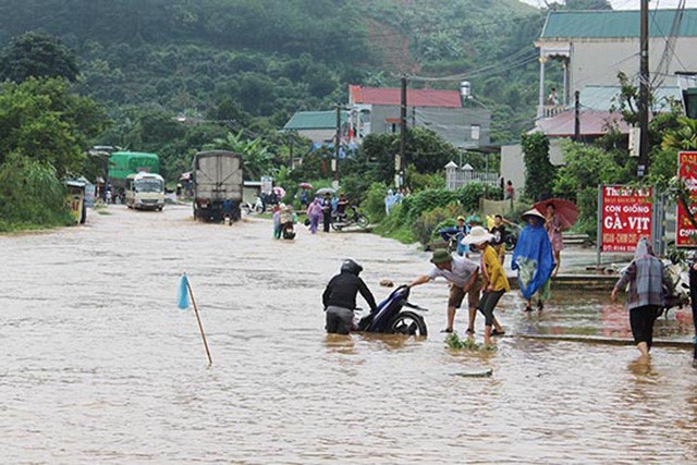
M 110 108 L 207 114 L 231 99 L 276 125 L 346 101 L 350 83 L 465 73 L 501 140 L 534 115 L 542 20 L 517 0 L 10 0 L 0 45 L 26 30 L 60 37 L 81 59 L 78 90 Z

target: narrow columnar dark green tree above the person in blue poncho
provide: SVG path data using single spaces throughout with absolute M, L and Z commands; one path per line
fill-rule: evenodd
M 525 193 L 536 201 L 551 196 L 554 167 L 549 161 L 549 139 L 543 133 L 523 134 Z

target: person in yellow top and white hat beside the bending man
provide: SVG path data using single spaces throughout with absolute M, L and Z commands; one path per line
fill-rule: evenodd
M 501 266 L 501 261 L 499 261 L 497 252 L 491 244 L 489 244 L 492 240 L 493 235 L 482 227 L 474 227 L 472 231 L 469 231 L 469 234 L 467 234 L 467 237 L 463 240 L 465 244 L 474 244 L 479 249 L 481 257 L 479 269 L 484 278 L 484 294 L 479 302 L 479 311 L 481 311 L 481 315 L 485 317 L 485 346 L 491 345 L 492 335 L 505 334 L 505 331 L 503 331 L 503 328 L 501 328 L 501 325 L 499 325 L 499 321 L 497 321 L 493 316 L 493 310 L 499 299 L 501 299 L 501 296 L 511 291 L 509 279 L 505 277 L 505 271 L 503 271 L 503 266 Z M 491 328 L 492 326 L 493 329 Z

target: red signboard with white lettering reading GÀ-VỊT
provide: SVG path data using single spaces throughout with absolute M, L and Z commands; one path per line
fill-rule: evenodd
M 602 186 L 602 252 L 634 252 L 639 237 L 651 236 L 652 189 Z

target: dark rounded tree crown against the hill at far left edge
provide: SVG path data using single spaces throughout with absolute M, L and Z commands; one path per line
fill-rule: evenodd
M 0 79 L 21 83 L 28 77 L 64 77 L 74 82 L 80 74 L 75 54 L 58 38 L 25 33 L 13 38 L 0 52 Z

